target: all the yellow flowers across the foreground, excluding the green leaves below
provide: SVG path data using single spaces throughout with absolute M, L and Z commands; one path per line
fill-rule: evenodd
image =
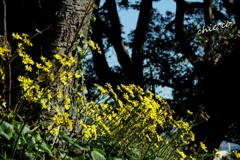
M 61 131 L 71 131 L 76 126 L 80 128 L 77 136 L 80 136 L 83 142 L 107 138 L 106 140 L 113 146 L 121 145 L 121 152 L 133 152 L 135 149 L 145 153 L 144 150 L 149 149 L 157 152 L 174 148 L 172 153 L 178 155 L 179 159 L 193 159 L 180 150 L 180 147 L 195 140 L 195 135 L 191 131 L 191 123 L 175 120 L 173 118 L 175 112 L 160 96 L 150 91 L 145 92 L 134 84 L 128 86 L 121 84 L 113 88 L 109 83 L 104 87 L 95 85 L 98 89 L 96 101 L 86 99 L 84 92 L 87 89 L 83 83 L 78 84 L 77 89 L 72 88 L 75 90 L 73 95 L 65 94 L 65 86 L 68 86 L 70 81 L 84 77 L 81 69 L 74 72 L 66 69 L 72 67 L 77 60 L 72 56 L 59 53 L 62 49 L 57 47 L 58 53 L 53 56 L 57 61 L 50 61 L 41 56 L 41 63 L 35 63 L 25 52 L 25 48 L 32 46 L 30 40 L 27 39 L 29 35 L 20 36 L 18 33 L 13 33 L 12 36 L 20 41 L 15 53 L 21 57 L 25 70 L 32 72 L 33 68 L 36 68 L 35 77 L 18 76 L 17 80 L 21 87 L 20 100 L 40 104 L 42 109 L 54 113 L 52 117 L 48 117 L 52 124 L 46 125 L 51 136 L 57 137 L 59 133 L 62 133 Z M 97 50 L 101 54 L 96 43 L 89 40 L 88 45 L 92 50 Z M 6 60 L 5 53 L 9 51 L 6 46 L 0 47 L 0 56 L 3 60 Z M 0 78 L 5 79 L 4 68 L 1 66 Z M 42 84 L 52 86 L 43 87 Z M 0 97 L 0 107 L 7 108 L 7 106 L 7 101 Z M 76 119 L 73 114 L 77 115 Z M 193 112 L 187 110 L 187 114 L 190 116 Z M 8 118 L 12 116 L 11 112 L 6 114 L 2 111 L 0 115 Z M 205 112 L 201 112 L 200 116 L 205 120 L 209 118 Z M 136 148 L 136 145 L 140 147 Z M 204 143 L 200 142 L 200 147 L 207 152 Z M 235 155 L 240 157 L 237 152 Z

